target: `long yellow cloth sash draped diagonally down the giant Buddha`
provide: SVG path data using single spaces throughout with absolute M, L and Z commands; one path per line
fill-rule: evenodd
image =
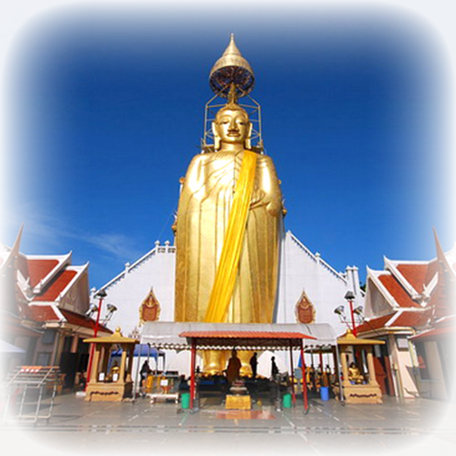
M 241 257 L 249 205 L 254 190 L 256 168 L 257 154 L 250 150 L 244 150 L 239 179 L 234 191 L 233 205 L 229 212 L 222 254 L 217 266 L 209 306 L 207 306 L 206 316 L 204 317 L 206 323 L 223 323 L 227 315 L 234 284 L 236 284 L 236 274 Z

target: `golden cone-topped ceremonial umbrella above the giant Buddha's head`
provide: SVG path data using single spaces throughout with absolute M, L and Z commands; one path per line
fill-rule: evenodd
M 237 96 L 243 97 L 252 91 L 254 82 L 254 72 L 237 48 L 234 33 L 231 33 L 228 47 L 209 73 L 209 85 L 214 93 L 224 98 L 234 85 Z

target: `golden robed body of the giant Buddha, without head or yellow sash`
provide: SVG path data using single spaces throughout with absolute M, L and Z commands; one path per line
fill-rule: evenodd
M 204 321 L 244 151 L 190 163 L 177 209 L 175 321 Z M 279 271 L 282 195 L 270 157 L 259 155 L 227 323 L 271 323 Z

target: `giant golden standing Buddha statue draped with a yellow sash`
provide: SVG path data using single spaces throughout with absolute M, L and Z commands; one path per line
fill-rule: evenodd
M 224 56 L 230 53 L 239 53 L 233 38 Z M 242 56 L 235 57 L 239 64 Z M 218 68 L 226 83 L 229 65 Z M 246 74 L 252 86 L 253 73 Z M 214 147 L 193 158 L 182 180 L 175 321 L 271 323 L 274 316 L 283 217 L 279 179 L 271 158 L 252 150 L 252 123 L 237 101 L 245 86 L 235 77 L 228 83 L 228 102 L 212 123 Z M 217 356 L 205 360 L 204 371 L 224 368 Z M 239 358 L 248 365 L 242 353 Z

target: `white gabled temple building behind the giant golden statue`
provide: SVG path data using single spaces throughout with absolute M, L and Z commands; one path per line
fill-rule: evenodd
M 120 326 L 125 336 L 133 336 L 140 334 L 145 321 L 174 321 L 175 256 L 174 245 L 157 241 L 150 252 L 133 264 L 125 264 L 120 274 L 100 287 L 108 294 L 105 303 L 118 308 L 110 328 Z M 284 233 L 274 323 L 329 323 L 336 334 L 344 333 L 346 323 L 334 309 L 346 304 L 347 291 L 355 295 L 354 307 L 363 305 L 356 266 L 347 266 L 345 272 L 338 272 L 294 234 Z M 94 294 L 95 289 L 91 299 Z M 348 316 L 348 309 L 346 314 Z M 289 368 L 287 357 L 286 353 L 276 354 L 281 371 Z M 261 375 L 268 375 L 269 358 L 259 358 Z M 165 359 L 167 371 L 189 369 L 188 353 L 167 353 Z

